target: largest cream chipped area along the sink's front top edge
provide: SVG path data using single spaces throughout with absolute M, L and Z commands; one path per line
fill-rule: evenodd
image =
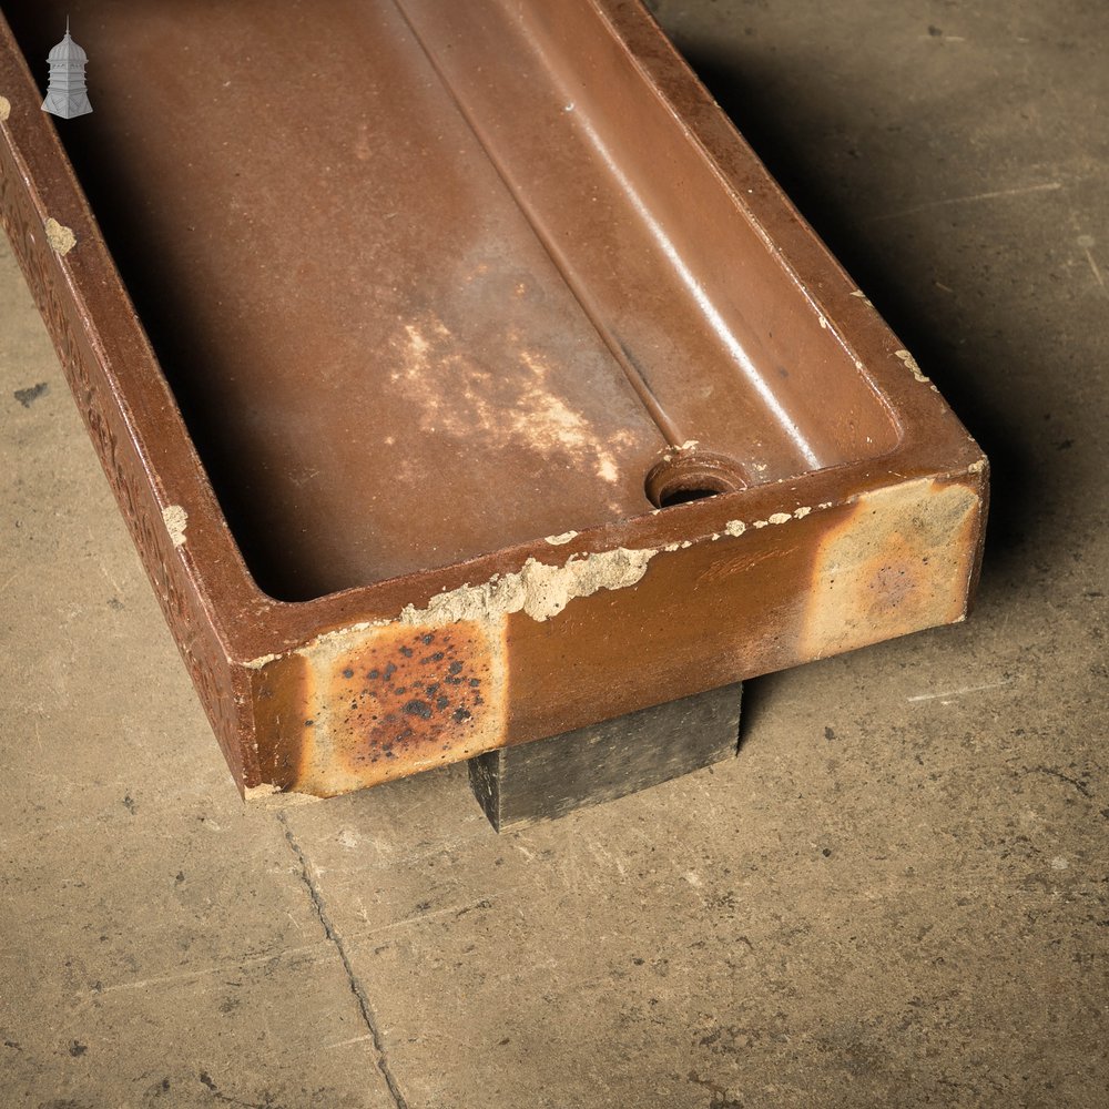
M 578 597 L 634 586 L 657 553 L 618 547 L 572 558 L 564 566 L 547 566 L 529 558 L 517 573 L 496 574 L 480 586 L 467 584 L 438 593 L 424 609 L 408 604 L 398 622 L 434 627 L 458 620 L 496 620 L 512 612 L 525 612 L 532 620 L 549 620 Z

